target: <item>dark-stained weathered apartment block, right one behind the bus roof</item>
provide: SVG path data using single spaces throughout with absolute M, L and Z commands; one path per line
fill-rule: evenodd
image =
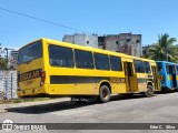
M 141 57 L 141 34 L 120 33 L 98 37 L 98 45 L 116 52 L 122 52 L 129 55 Z

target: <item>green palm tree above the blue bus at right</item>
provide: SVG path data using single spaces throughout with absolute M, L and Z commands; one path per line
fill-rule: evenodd
M 176 62 L 178 58 L 178 44 L 174 44 L 177 41 L 176 38 L 169 38 L 168 33 L 158 38 L 158 42 L 150 47 L 148 57 L 157 61 Z

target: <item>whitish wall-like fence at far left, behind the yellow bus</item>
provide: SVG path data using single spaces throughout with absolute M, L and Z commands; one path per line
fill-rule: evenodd
M 17 99 L 17 71 L 0 70 L 0 99 Z

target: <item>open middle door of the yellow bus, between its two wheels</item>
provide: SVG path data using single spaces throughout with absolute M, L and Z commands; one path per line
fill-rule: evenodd
M 125 66 L 127 92 L 137 92 L 138 91 L 137 74 L 134 72 L 132 62 L 123 62 L 123 66 Z

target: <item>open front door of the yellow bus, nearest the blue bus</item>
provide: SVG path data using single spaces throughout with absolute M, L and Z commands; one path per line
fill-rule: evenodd
M 151 69 L 152 69 L 152 75 L 154 75 L 155 90 L 156 91 L 160 91 L 161 90 L 161 88 L 160 88 L 160 78 L 159 78 L 157 68 L 152 65 Z

